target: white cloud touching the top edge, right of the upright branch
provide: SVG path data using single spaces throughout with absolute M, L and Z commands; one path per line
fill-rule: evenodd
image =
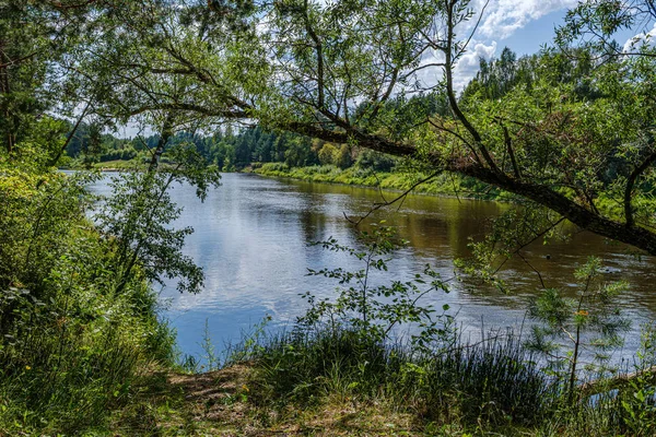
M 577 3 L 577 0 L 490 0 L 478 32 L 482 36 L 504 39 L 534 20 Z M 475 0 L 471 8 L 480 14 L 484 4 L 485 0 Z M 470 23 L 477 20 L 478 15 Z

